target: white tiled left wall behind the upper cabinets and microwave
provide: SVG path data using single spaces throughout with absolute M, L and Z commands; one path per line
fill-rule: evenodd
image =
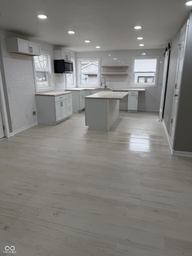
M 55 47 L 51 44 L 39 42 L 32 38 L 26 38 L 22 35 L 17 35 L 8 31 L 0 30 L 0 43 L 2 53 L 1 61 L 3 63 L 5 76 L 4 83 L 7 87 L 12 130 L 13 133 L 16 133 L 37 124 L 37 115 L 32 115 L 32 112 L 36 111 L 35 80 L 32 57 L 14 53 L 7 53 L 5 42 L 5 38 L 7 37 L 19 37 L 32 42 L 40 43 L 41 50 L 50 53 L 53 52 L 53 49 L 56 50 L 60 48 Z M 62 48 L 62 50 L 65 49 Z M 69 50 L 67 50 L 67 52 L 70 52 L 71 56 L 75 57 L 74 52 Z M 54 70 L 52 70 L 52 75 L 55 90 L 64 91 L 66 86 L 65 75 L 54 74 Z M 29 114 L 29 118 L 26 118 L 26 114 Z

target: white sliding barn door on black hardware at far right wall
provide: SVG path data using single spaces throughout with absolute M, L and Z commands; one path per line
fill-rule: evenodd
M 170 44 L 166 48 L 165 60 L 164 60 L 163 81 L 162 81 L 162 89 L 161 89 L 161 101 L 160 101 L 160 107 L 159 107 L 159 116 L 161 119 L 163 119 L 165 90 L 166 90 L 166 84 L 167 84 L 167 72 L 168 72 L 168 66 L 169 66 L 169 56 L 170 56 Z

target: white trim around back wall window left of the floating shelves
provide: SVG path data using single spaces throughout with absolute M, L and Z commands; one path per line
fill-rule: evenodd
M 80 61 L 98 61 L 98 83 L 97 84 L 81 84 L 81 77 L 80 77 Z M 77 87 L 100 87 L 101 84 L 101 58 L 77 58 Z

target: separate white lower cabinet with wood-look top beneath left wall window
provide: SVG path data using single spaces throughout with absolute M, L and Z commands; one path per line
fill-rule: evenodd
M 72 95 L 59 96 L 35 95 L 38 123 L 56 125 L 69 118 L 72 113 Z

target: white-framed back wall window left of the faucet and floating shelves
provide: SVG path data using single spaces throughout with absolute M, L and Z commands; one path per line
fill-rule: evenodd
M 84 87 L 100 86 L 101 58 L 77 59 L 78 85 Z

